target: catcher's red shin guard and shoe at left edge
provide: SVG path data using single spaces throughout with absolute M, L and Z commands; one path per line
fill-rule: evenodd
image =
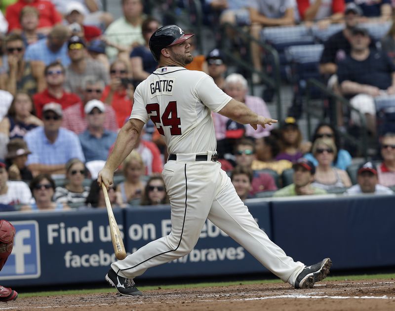
M 4 219 L 0 220 L 0 270 L 3 269 L 14 246 L 15 228 Z M 11 288 L 0 285 L 0 301 L 15 300 L 18 293 Z

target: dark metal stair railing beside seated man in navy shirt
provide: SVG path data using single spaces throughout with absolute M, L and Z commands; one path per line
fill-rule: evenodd
M 361 133 L 361 140 L 356 140 L 354 136 L 351 136 L 350 134 L 346 133 L 339 133 L 342 135 L 345 139 L 352 141 L 357 147 L 358 151 L 361 153 L 361 155 L 365 158 L 367 161 L 367 128 L 366 128 L 366 118 L 363 114 L 361 114 L 358 110 L 356 110 L 353 106 L 351 106 L 350 102 L 342 97 L 339 94 L 336 94 L 332 90 L 330 90 L 325 84 L 321 83 L 320 81 L 316 79 L 309 79 L 307 81 L 307 88 L 306 88 L 306 115 L 307 115 L 307 131 L 309 134 L 309 137 L 312 135 L 312 128 L 311 128 L 311 118 L 312 118 L 312 111 L 313 111 L 313 101 L 311 96 L 311 90 L 312 88 L 315 87 L 317 88 L 323 95 L 327 96 L 327 98 L 332 99 L 335 101 L 334 105 L 330 105 L 330 123 L 337 128 L 337 115 L 336 115 L 336 102 L 341 103 L 342 105 L 346 106 L 348 109 L 351 111 L 356 112 L 358 114 L 359 119 L 360 119 L 360 127 L 359 127 L 359 132 Z

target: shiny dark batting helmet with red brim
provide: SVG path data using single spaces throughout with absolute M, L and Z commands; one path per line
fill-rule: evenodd
M 185 35 L 182 29 L 177 25 L 160 27 L 150 38 L 149 45 L 151 53 L 158 62 L 162 48 L 184 42 L 192 36 L 194 36 L 194 34 Z

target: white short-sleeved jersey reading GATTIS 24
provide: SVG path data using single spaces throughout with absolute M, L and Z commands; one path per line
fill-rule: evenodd
M 211 111 L 231 99 L 203 72 L 161 67 L 137 86 L 130 118 L 151 118 L 169 154 L 206 153 L 217 146 Z

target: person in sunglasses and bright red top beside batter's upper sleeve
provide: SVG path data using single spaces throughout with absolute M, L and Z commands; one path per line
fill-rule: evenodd
M 113 107 L 117 114 L 118 126 L 122 127 L 130 117 L 133 107 L 134 87 L 128 78 L 127 65 L 116 60 L 110 66 L 110 85 L 104 88 L 101 101 Z

